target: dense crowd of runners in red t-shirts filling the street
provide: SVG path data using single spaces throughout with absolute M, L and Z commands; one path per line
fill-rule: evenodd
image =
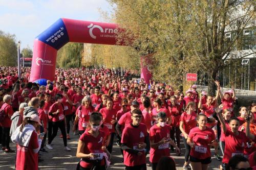
M 114 141 L 127 170 L 146 169 L 147 154 L 153 170 L 176 169 L 170 152 L 184 154 L 183 169 L 207 169 L 211 148 L 221 169 L 256 168 L 256 103 L 237 113 L 235 90 L 222 93 L 218 81 L 212 96 L 106 68 L 56 69 L 55 81 L 39 86 L 29 71 L 18 79 L 15 67 L 0 70 L 0 144 L 13 153 L 16 143 L 16 169 L 38 169 L 38 152 L 54 150 L 58 130 L 66 151 L 70 133 L 79 134 L 77 169 L 106 169 Z

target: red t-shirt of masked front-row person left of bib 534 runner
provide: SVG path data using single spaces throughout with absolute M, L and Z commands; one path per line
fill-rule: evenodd
M 154 125 L 150 128 L 150 140 L 154 140 L 154 143 L 159 142 L 162 138 L 170 138 L 170 126 L 158 127 Z M 157 149 L 150 149 L 150 162 L 157 163 L 162 156 L 169 156 L 169 143 L 163 143 L 158 146 Z

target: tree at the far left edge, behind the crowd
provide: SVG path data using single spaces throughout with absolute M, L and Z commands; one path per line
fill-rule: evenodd
M 15 66 L 17 65 L 17 44 L 15 35 L 4 33 L 0 30 L 0 65 Z

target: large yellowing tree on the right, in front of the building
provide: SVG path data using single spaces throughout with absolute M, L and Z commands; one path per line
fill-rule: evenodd
M 225 56 L 239 45 L 245 28 L 255 27 L 253 0 L 109 2 L 127 39 L 134 40 L 131 45 L 141 55 L 154 53 L 154 79 L 178 86 L 186 73 L 206 72 L 211 94 Z M 227 30 L 234 32 L 229 43 L 225 41 Z

